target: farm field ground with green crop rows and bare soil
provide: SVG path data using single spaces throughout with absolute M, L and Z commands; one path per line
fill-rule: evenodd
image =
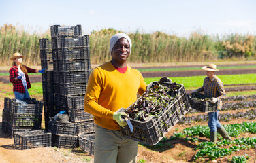
M 202 86 L 204 77 L 206 77 L 205 72 L 202 70 L 202 63 L 186 63 L 185 65 L 171 65 L 162 64 L 161 68 L 159 65 L 139 65 L 130 64 L 132 67 L 138 67 L 142 75 L 146 73 L 154 73 L 154 77 L 145 77 L 147 84 L 158 80 L 163 74 L 160 72 L 165 72 L 169 75 L 173 82 L 179 84 L 184 84 L 187 92 L 199 88 Z M 164 65 L 164 67 L 163 67 Z M 192 66 L 191 66 L 192 65 Z M 96 65 L 92 65 L 95 67 Z M 150 67 L 150 68 L 148 68 Z M 178 68 L 177 68 L 178 67 Z M 255 62 L 239 62 L 234 64 L 234 62 L 225 62 L 225 64 L 217 63 L 217 68 L 220 71 L 217 72 L 217 76 L 223 80 L 225 84 L 225 89 L 227 91 L 228 100 L 224 101 L 223 111 L 220 111 L 219 117 L 221 118 L 221 124 L 227 125 L 227 131 L 232 135 L 233 139 L 245 142 L 242 138 L 251 138 L 256 140 L 256 130 L 242 130 L 239 126 L 250 126 L 250 128 L 255 128 L 256 122 L 256 67 Z M 7 70 L 10 67 L 0 67 L 0 123 L 3 109 L 3 98 L 8 96 L 14 98 L 12 93 L 12 84 L 8 81 Z M 34 68 L 40 68 L 35 66 Z M 143 68 L 143 69 L 142 69 Z M 150 71 L 148 71 L 151 69 Z M 239 71 L 239 70 L 243 71 Z M 146 70 L 146 71 L 145 71 Z M 226 73 L 219 75 L 221 71 Z M 240 73 L 237 74 L 236 71 Z M 178 72 L 176 74 L 186 74 L 191 72 L 196 72 L 199 75 L 187 75 L 176 76 L 170 75 L 173 72 Z M 249 73 L 246 73 L 249 72 Z M 32 82 L 32 88 L 29 90 L 31 97 L 42 100 L 42 83 L 41 75 L 29 75 Z M 44 114 L 43 114 L 44 115 Z M 245 122 L 251 122 L 250 124 L 244 124 Z M 217 162 L 229 162 L 233 156 L 245 156 L 247 154 L 249 160 L 247 162 L 254 162 L 255 159 L 255 149 L 249 145 L 250 141 L 246 141 L 240 145 L 238 149 L 238 144 L 235 142 L 223 143 L 219 137 L 219 145 L 212 147 L 206 142 L 209 141 L 209 131 L 207 126 L 207 114 L 198 113 L 191 110 L 185 117 L 176 124 L 170 132 L 167 133 L 166 138 L 159 142 L 157 145 L 148 147 L 146 145 L 140 144 L 138 148 L 138 162 L 212 162 L 212 160 L 217 160 Z M 231 128 L 238 128 L 236 131 Z M 0 124 L 1 126 L 1 124 Z M 44 122 L 42 122 L 44 126 Z M 12 147 L 13 139 L 7 138 L 5 134 L 0 132 L 0 162 L 93 162 L 93 156 L 88 156 L 81 149 L 57 149 L 54 147 L 42 147 L 29 150 L 16 150 Z M 229 151 L 228 155 L 223 155 L 223 157 L 214 158 L 210 156 L 207 152 L 205 156 L 198 157 L 194 159 L 196 154 L 202 152 L 202 147 L 204 145 L 205 149 L 208 149 L 211 153 L 218 153 L 219 148 Z M 221 146 L 222 145 L 222 146 Z M 235 146 L 235 147 L 232 147 Z M 212 150 L 212 151 L 210 151 Z M 215 150 L 213 152 L 213 150 Z M 224 152 L 222 152 L 224 153 Z M 228 153 L 228 152 L 227 152 Z M 31 157 L 32 156 L 32 157 Z M 4 161 L 3 161 L 4 160 Z

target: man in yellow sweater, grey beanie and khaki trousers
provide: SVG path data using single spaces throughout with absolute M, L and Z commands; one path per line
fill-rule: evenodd
M 84 111 L 94 115 L 94 162 L 136 162 L 138 142 L 123 137 L 120 126 L 127 123 L 116 113 L 127 108 L 146 91 L 146 83 L 137 69 L 127 65 L 131 39 L 125 33 L 110 39 L 112 60 L 93 69 L 84 97 Z M 119 125 L 120 126 L 119 126 Z

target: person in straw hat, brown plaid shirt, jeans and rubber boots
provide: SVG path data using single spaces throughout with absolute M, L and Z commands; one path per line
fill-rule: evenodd
M 192 93 L 204 92 L 204 96 L 210 98 L 210 103 L 217 103 L 217 111 L 209 112 L 209 121 L 208 126 L 210 128 L 210 141 L 216 143 L 217 141 L 217 132 L 221 134 L 224 139 L 231 140 L 231 137 L 227 134 L 227 131 L 218 120 L 218 113 L 222 107 L 222 99 L 226 98 L 226 92 L 224 90 L 223 82 L 215 75 L 215 71 L 219 71 L 214 64 L 208 64 L 207 66 L 202 67 L 206 71 L 207 77 L 204 79 L 204 85 L 194 90 Z

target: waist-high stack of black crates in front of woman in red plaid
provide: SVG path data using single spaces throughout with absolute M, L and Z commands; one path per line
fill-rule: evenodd
M 25 102 L 5 98 L 2 130 L 8 137 L 14 137 L 15 132 L 41 128 L 43 103 L 35 98 L 27 98 Z

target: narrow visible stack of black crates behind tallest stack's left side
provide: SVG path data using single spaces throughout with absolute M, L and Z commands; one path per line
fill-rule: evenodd
M 44 99 L 44 122 L 45 128 L 48 127 L 50 117 L 56 114 L 54 105 L 54 74 L 52 60 L 52 43 L 49 39 L 40 39 L 40 58 L 41 67 L 46 69 L 42 73 L 43 99 Z

